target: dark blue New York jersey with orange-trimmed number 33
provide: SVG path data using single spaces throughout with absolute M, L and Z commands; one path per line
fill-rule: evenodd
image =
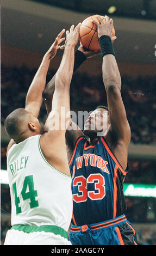
M 104 137 L 87 145 L 85 137 L 78 138 L 69 162 L 72 176 L 73 225 L 107 221 L 124 214 L 126 201 L 123 170 Z

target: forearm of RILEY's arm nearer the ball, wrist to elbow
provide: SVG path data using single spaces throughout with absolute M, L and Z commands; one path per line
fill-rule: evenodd
M 65 46 L 63 58 L 55 77 L 55 88 L 70 87 L 74 67 L 74 45 Z

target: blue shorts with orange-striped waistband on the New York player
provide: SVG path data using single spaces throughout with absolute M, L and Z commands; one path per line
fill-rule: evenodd
M 125 215 L 89 225 L 71 225 L 69 240 L 72 245 L 137 245 L 135 230 Z

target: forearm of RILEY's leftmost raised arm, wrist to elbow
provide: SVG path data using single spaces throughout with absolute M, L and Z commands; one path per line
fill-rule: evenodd
M 26 105 L 29 102 L 35 101 L 42 104 L 42 93 L 46 85 L 46 76 L 49 68 L 50 59 L 47 56 L 44 56 L 38 71 L 36 72 L 34 79 L 29 87 Z

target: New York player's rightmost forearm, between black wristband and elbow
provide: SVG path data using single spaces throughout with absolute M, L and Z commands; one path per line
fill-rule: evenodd
M 102 72 L 106 91 L 110 87 L 121 90 L 121 76 L 113 54 L 107 54 L 103 57 Z

